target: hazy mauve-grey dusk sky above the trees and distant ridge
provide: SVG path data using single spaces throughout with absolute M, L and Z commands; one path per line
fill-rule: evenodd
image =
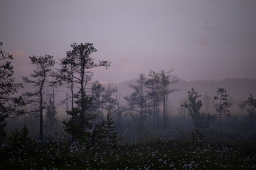
M 28 56 L 65 57 L 74 42 L 92 42 L 93 80 L 136 79 L 174 69 L 181 79 L 256 78 L 253 0 L 1 0 L 2 50 L 16 77 L 32 72 Z

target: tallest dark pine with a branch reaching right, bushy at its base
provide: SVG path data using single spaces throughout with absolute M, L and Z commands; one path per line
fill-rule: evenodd
M 70 120 L 63 122 L 65 130 L 73 133 L 74 139 L 74 137 L 88 137 L 88 134 L 91 131 L 90 129 L 92 128 L 92 120 L 94 116 L 87 112 L 87 109 L 92 102 L 86 91 L 87 83 L 93 76 L 91 69 L 95 67 L 109 67 L 110 63 L 104 60 L 95 62 L 95 58 L 91 57 L 91 55 L 97 50 L 92 43 L 81 43 L 80 45 L 74 43 L 71 47 L 73 47 L 73 50 L 68 52 L 68 56 L 66 58 L 72 59 L 72 62 L 63 62 L 62 67 L 64 69 L 60 70 L 60 72 L 67 75 L 71 72 L 72 67 L 73 76 L 68 78 L 65 78 L 67 77 L 65 76 L 62 78 L 64 78 L 69 84 L 73 84 L 73 86 L 76 84 L 79 89 L 78 93 L 74 94 L 74 98 L 77 98 L 77 101 L 74 101 L 74 103 L 76 103 L 76 108 L 74 107 L 72 111 L 68 112 L 74 118 L 70 118 Z M 65 69 L 66 64 L 69 64 L 68 69 Z M 74 130 L 78 130 L 78 133 Z

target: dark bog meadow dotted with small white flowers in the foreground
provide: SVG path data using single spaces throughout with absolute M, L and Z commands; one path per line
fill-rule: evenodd
M 0 169 L 256 169 L 255 137 L 211 132 L 203 142 L 192 142 L 190 134 L 171 130 L 119 135 L 117 145 L 97 147 L 71 142 L 61 133 L 43 140 L 6 141 Z

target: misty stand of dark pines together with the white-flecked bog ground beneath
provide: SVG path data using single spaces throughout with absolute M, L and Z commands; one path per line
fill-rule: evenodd
M 0 169 L 256 169 L 254 91 L 235 101 L 221 86 L 214 96 L 192 87 L 172 110 L 184 90 L 174 69 L 138 72 L 123 96 L 92 81 L 114 62 L 92 57 L 92 43 L 60 61 L 29 57 L 22 83 L 0 49 Z

